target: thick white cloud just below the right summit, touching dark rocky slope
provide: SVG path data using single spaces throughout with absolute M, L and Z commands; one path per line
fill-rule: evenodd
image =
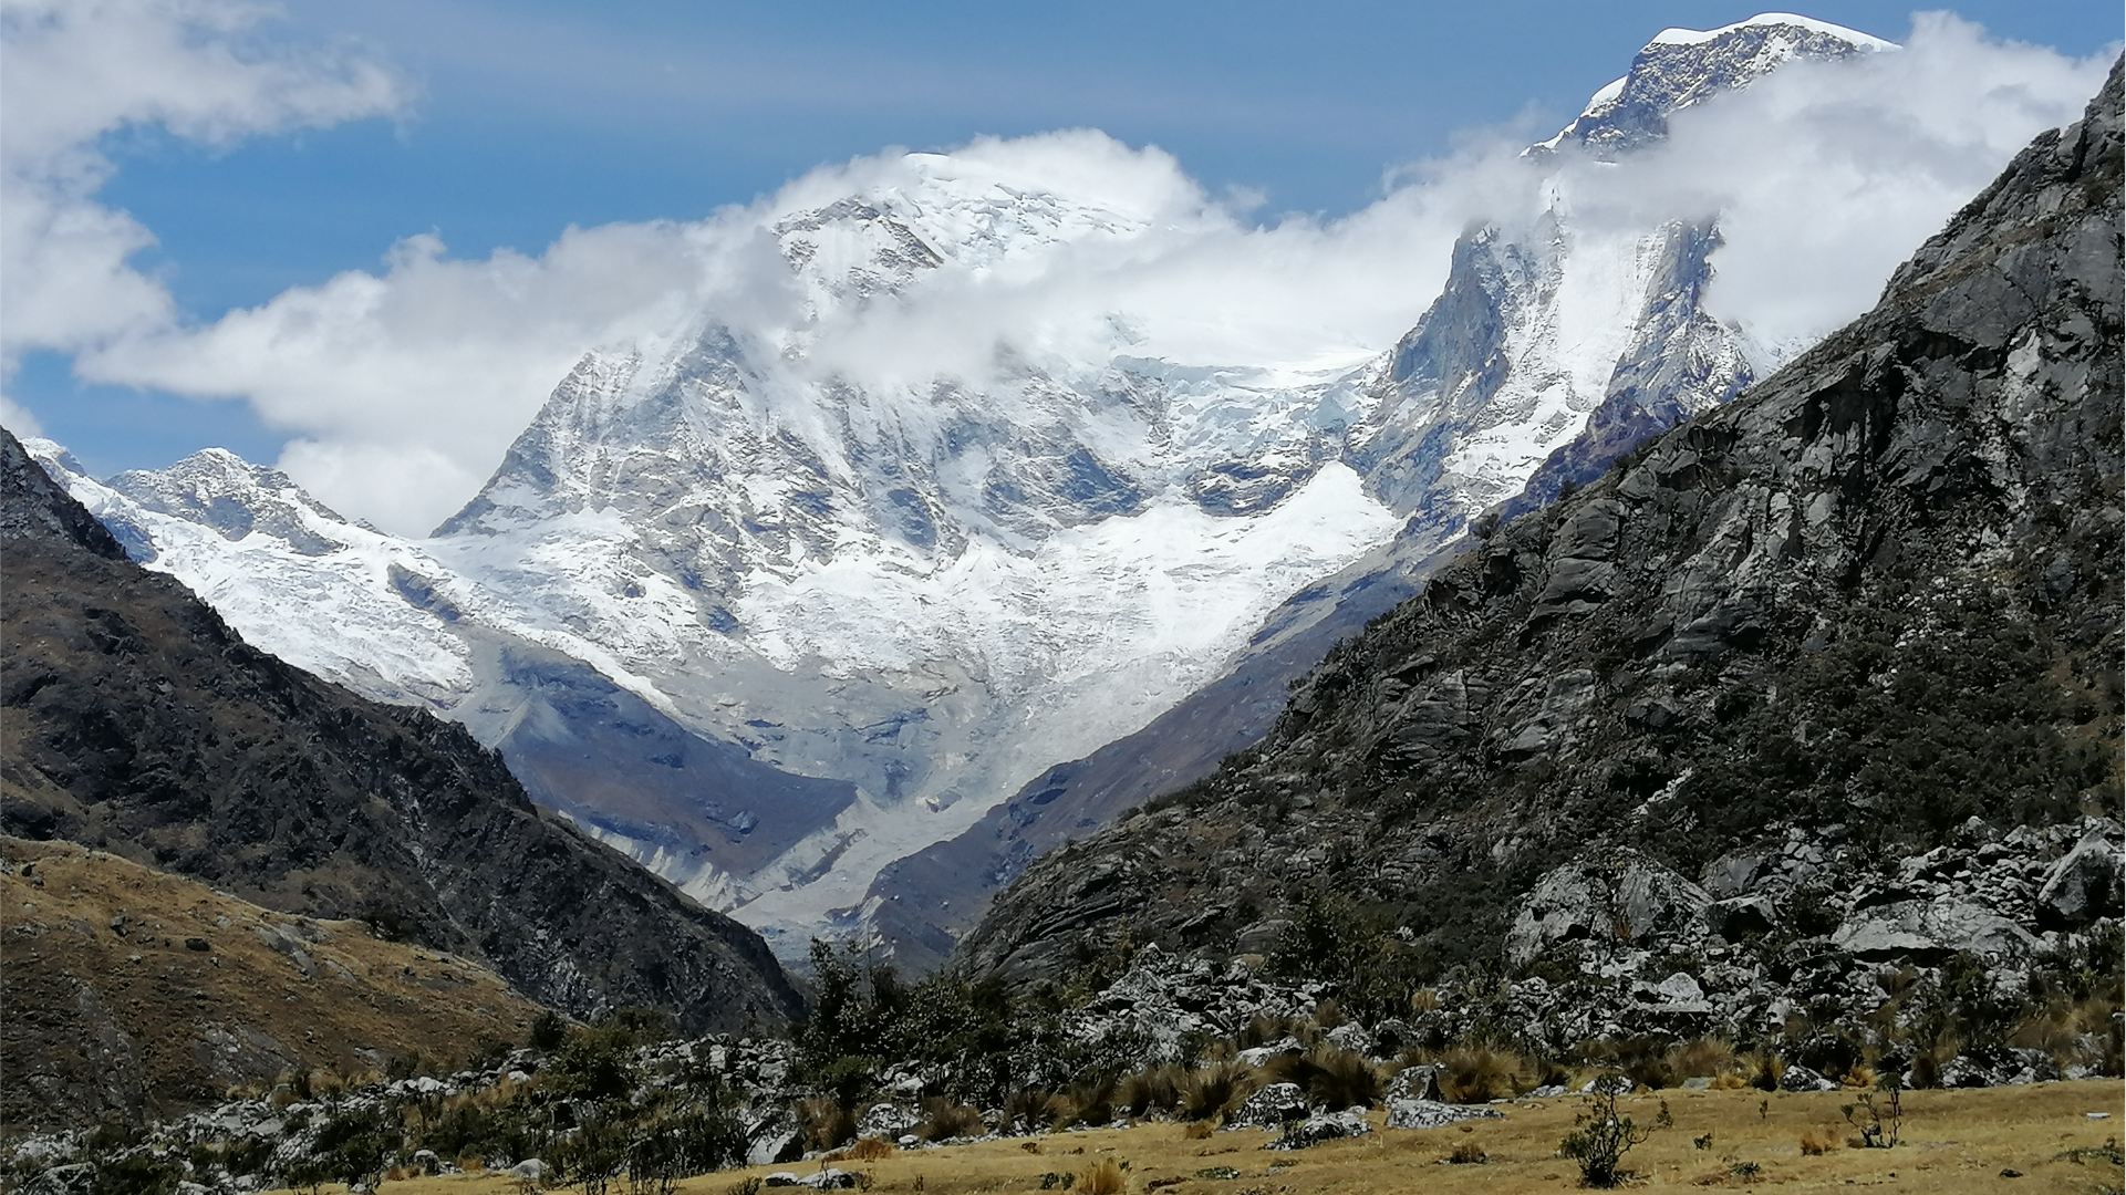
M 2115 57 L 1988 40 L 1933 13 L 1901 53 L 1792 64 L 1680 113 L 1631 170 L 1582 170 L 1575 213 L 1718 213 L 1707 306 L 1767 344 L 1809 344 L 1884 281 L 2037 132 L 2081 117 Z

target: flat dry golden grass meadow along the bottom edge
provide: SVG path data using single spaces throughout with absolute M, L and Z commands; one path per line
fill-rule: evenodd
M 1805 1131 L 1841 1123 L 1837 1091 L 1809 1095 L 1765 1095 L 1760 1091 L 1663 1091 L 1624 1097 L 1641 1123 L 1652 1121 L 1667 1099 L 1675 1127 L 1656 1133 L 1626 1155 L 1626 1165 L 1643 1178 L 1637 1189 L 1743 1189 L 1779 1191 L 1924 1191 L 1943 1195 L 2018 1191 L 2094 1193 L 2100 1184 L 2126 1186 L 2126 1167 L 2109 1157 L 2071 1150 L 2100 1150 L 2113 1127 L 2126 1121 L 2126 1082 L 2056 1082 L 1994 1091 L 1911 1091 L 1905 1095 L 1905 1144 L 1894 1150 L 1833 1148 L 1807 1157 L 1799 1148 Z M 1758 1114 L 1758 1101 L 1765 1114 Z M 1086 1191 L 1086 1176 L 1112 1161 L 1125 1191 L 1176 1195 L 1388 1195 L 1407 1191 L 1454 1191 L 1518 1195 L 1575 1191 L 1580 1172 L 1556 1157 L 1558 1140 L 1573 1127 L 1580 1099 L 1546 1099 L 1507 1108 L 1503 1121 L 1480 1121 L 1450 1129 L 1378 1131 L 1348 1142 L 1327 1142 L 1301 1152 L 1267 1152 L 1267 1131 L 1216 1133 L 1188 1140 L 1182 1125 L 1157 1123 L 1135 1129 L 1095 1129 L 1042 1138 L 1040 1152 L 1023 1142 L 984 1142 L 938 1150 L 901 1150 L 876 1163 L 838 1163 L 872 1178 L 872 1191 L 923 1191 L 925 1195 L 976 1195 L 1040 1191 L 1042 1174 L 1078 1176 L 1074 1195 Z M 2120 1121 L 2088 1121 L 2086 1112 L 2115 1112 Z M 1376 1114 L 1380 1123 L 1380 1114 Z M 1692 1142 L 1711 1133 L 1711 1146 Z M 1484 1155 L 1482 1165 L 1448 1165 Z M 2126 1157 L 2126 1155 L 2122 1155 Z M 1127 1169 L 1123 1169 L 1127 1163 Z M 1758 1169 L 1752 1174 L 1750 1165 Z M 767 1165 L 723 1172 L 680 1184 L 678 1195 L 725 1195 L 748 1176 L 774 1169 L 804 1174 L 819 1163 Z M 1210 1178 L 1216 1167 L 1233 1167 L 1237 1178 Z M 2003 1169 L 2022 1174 L 2001 1178 Z M 410 1178 L 393 1182 L 385 1195 L 514 1195 L 497 1176 Z

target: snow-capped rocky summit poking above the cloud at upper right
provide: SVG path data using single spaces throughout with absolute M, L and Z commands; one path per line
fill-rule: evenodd
M 1614 157 L 1663 138 L 1675 113 L 1748 87 L 1788 62 L 1837 62 L 1890 49 L 1899 49 L 1896 43 L 1792 13 L 1762 13 L 1718 30 L 1663 30 L 1646 43 L 1629 74 L 1594 91 L 1573 123 L 1533 149 L 1571 142 Z

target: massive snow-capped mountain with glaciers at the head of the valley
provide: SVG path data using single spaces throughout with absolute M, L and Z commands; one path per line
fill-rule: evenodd
M 1526 168 L 1879 45 L 1794 17 L 1665 32 Z M 1356 368 L 1142 357 L 1127 313 L 1099 349 L 1029 327 L 969 351 L 899 315 L 993 306 L 1197 213 L 910 155 L 753 213 L 787 285 L 587 355 L 419 542 L 227 453 L 98 483 L 32 451 L 255 644 L 466 721 L 534 795 L 799 955 L 863 923 L 895 859 L 1216 678 L 1290 593 L 1452 540 L 1603 410 L 1703 410 L 1765 364 L 1699 304 L 1714 228 L 1592 230 L 1546 196 L 1473 228 Z

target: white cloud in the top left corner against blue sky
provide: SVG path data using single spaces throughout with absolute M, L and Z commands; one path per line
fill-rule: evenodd
M 30 349 L 79 351 L 172 319 L 128 264 L 153 234 L 96 202 L 96 142 L 130 125 L 230 145 L 395 111 L 404 85 L 361 53 L 253 34 L 232 0 L 0 0 L 0 376 Z

